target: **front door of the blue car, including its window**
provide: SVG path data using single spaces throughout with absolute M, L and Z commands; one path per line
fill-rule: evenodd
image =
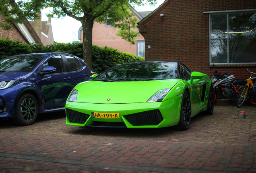
M 65 107 L 66 99 L 72 91 L 73 86 L 62 56 L 56 55 L 47 59 L 40 70 L 45 66 L 53 66 L 56 68 L 56 71 L 40 76 L 41 80 L 39 82 L 44 97 L 42 98 L 43 109 Z

